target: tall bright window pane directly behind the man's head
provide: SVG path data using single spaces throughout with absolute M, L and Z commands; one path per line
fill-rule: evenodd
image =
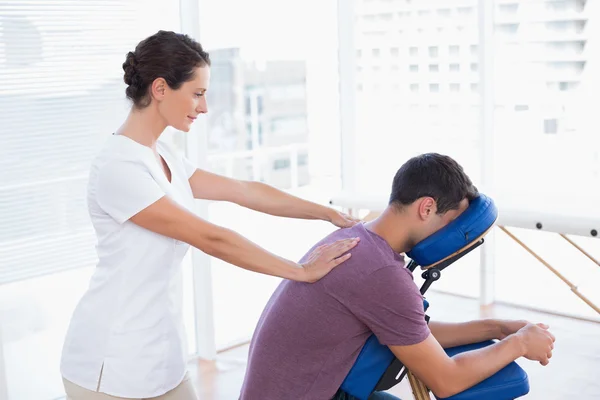
M 355 115 L 348 117 L 356 160 L 355 175 L 344 179 L 361 194 L 387 197 L 402 163 L 440 152 L 477 183 L 477 1 L 356 1 L 354 16 Z M 477 296 L 478 265 L 476 250 L 435 287 Z

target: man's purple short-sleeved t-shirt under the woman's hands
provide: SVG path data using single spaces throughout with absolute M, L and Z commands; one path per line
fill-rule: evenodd
M 381 236 L 357 224 L 315 247 L 350 237 L 360 237 L 352 257 L 327 276 L 275 290 L 250 344 L 241 400 L 330 399 L 371 334 L 400 346 L 429 335 L 412 273 Z

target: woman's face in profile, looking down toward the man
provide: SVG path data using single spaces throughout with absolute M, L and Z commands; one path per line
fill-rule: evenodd
M 158 110 L 168 126 L 189 132 L 198 115 L 208 111 L 206 91 L 209 80 L 210 67 L 205 65 L 197 67 L 192 79 L 177 90 L 164 85 L 164 94 L 160 96 Z

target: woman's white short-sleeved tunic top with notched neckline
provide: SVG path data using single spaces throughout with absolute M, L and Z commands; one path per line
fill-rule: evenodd
M 117 397 L 155 397 L 186 372 L 181 261 L 189 245 L 129 218 L 163 196 L 190 211 L 195 167 L 159 140 L 152 149 L 112 135 L 93 161 L 88 209 L 98 264 L 75 308 L 61 360 L 67 380 Z

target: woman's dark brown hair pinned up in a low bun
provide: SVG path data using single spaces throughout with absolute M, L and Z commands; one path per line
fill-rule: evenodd
M 200 43 L 181 33 L 158 31 L 127 53 L 123 63 L 125 94 L 137 108 L 147 107 L 148 88 L 156 78 L 164 78 L 176 90 L 193 79 L 194 68 L 205 65 L 210 65 L 210 58 Z

